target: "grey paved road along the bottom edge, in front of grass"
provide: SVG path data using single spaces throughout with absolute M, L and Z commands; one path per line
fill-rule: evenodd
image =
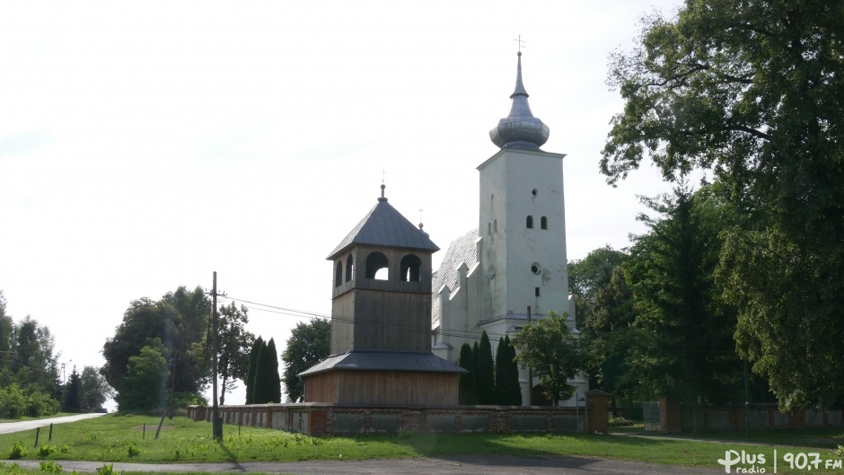
M 22 467 L 38 470 L 39 461 L 15 461 Z M 65 471 L 92 473 L 103 462 L 56 461 Z M 713 461 L 713 463 L 715 463 Z M 462 456 L 443 459 L 392 459 L 367 461 L 330 462 L 227 462 L 227 463 L 114 463 L 115 471 L 217 473 L 292 473 L 295 475 L 575 475 L 575 474 L 630 474 L 630 475 L 715 475 L 724 469 L 697 469 L 651 465 L 648 463 L 597 460 L 580 457 L 519 458 L 511 456 L 476 457 Z

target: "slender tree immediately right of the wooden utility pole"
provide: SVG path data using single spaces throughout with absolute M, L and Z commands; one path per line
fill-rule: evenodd
M 225 391 L 233 391 L 236 386 L 235 382 L 246 380 L 247 372 L 249 371 L 250 363 L 250 348 L 255 335 L 244 330 L 246 323 L 249 322 L 249 309 L 241 305 L 240 308 L 232 302 L 229 306 L 223 305 L 219 312 L 219 326 L 218 326 L 218 342 L 219 342 L 219 357 L 217 359 L 217 371 L 220 379 L 223 380 L 220 385 L 220 404 L 224 404 Z M 211 339 L 207 335 L 207 347 Z

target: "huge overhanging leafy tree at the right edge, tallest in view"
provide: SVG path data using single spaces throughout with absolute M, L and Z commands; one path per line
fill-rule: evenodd
M 666 179 L 710 170 L 738 220 L 718 282 L 735 338 L 782 409 L 844 401 L 844 8 L 687 0 L 646 18 L 611 57 L 625 106 L 601 169 L 612 184 L 646 157 Z

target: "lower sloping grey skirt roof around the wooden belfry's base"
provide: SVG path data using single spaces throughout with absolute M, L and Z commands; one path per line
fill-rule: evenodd
M 420 373 L 467 373 L 465 369 L 432 353 L 400 351 L 348 351 L 331 355 L 304 370 L 299 376 L 329 370 L 347 371 L 413 371 Z

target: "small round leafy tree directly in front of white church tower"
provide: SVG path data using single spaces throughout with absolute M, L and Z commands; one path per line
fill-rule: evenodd
M 519 330 L 513 345 L 518 350 L 516 360 L 531 366 L 554 406 L 575 393 L 576 386 L 568 381 L 584 369 L 585 358 L 565 317 L 555 311 L 548 312 L 547 317 Z

